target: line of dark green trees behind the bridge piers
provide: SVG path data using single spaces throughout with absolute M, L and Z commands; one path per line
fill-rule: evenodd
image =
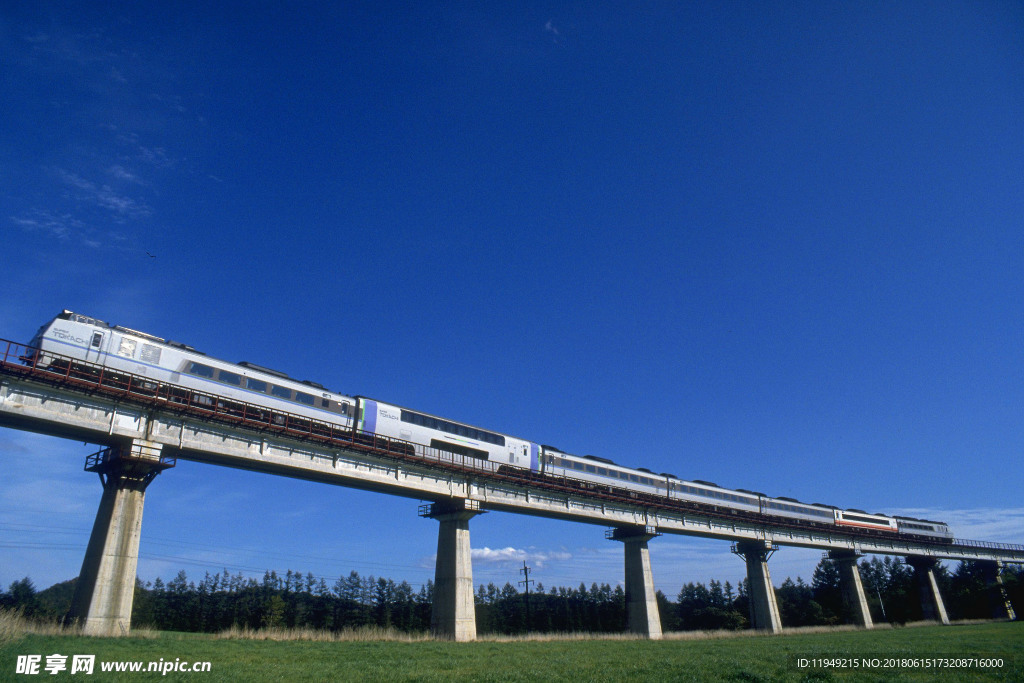
M 990 589 L 980 562 L 959 562 L 953 570 L 939 565 L 936 580 L 949 617 L 987 618 Z M 864 593 L 876 623 L 921 618 L 920 593 L 913 570 L 891 557 L 860 562 Z M 24 610 L 27 616 L 60 620 L 71 606 L 75 582 L 36 591 L 28 578 L 0 593 L 0 607 Z M 1015 610 L 1024 612 L 1024 568 L 1004 570 L 1004 585 Z M 785 627 L 828 626 L 850 622 L 839 570 L 823 559 L 811 583 L 786 579 L 775 589 Z M 162 631 L 218 632 L 250 629 L 310 628 L 340 631 L 375 626 L 404 632 L 430 628 L 433 585 L 418 591 L 408 582 L 350 572 L 328 585 L 312 573 L 267 571 L 262 579 L 226 570 L 207 572 L 198 583 L 182 570 L 166 584 L 136 582 L 132 623 Z M 688 583 L 675 600 L 660 591 L 657 601 L 664 631 L 738 630 L 750 628 L 746 581 L 737 586 L 712 580 Z M 538 584 L 528 595 L 511 583 L 480 585 L 475 593 L 478 633 L 527 632 L 611 633 L 626 628 L 626 593 L 622 586 L 587 588 Z

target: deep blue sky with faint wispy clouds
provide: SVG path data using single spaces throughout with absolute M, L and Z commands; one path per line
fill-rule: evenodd
M 4 3 L 0 336 L 71 308 L 1024 543 L 1022 30 L 1013 2 Z M 0 585 L 77 573 L 94 450 L 0 431 Z M 180 462 L 139 574 L 420 585 L 416 508 Z M 477 583 L 622 580 L 600 527 L 471 529 Z M 743 573 L 725 543 L 651 554 L 669 595 Z

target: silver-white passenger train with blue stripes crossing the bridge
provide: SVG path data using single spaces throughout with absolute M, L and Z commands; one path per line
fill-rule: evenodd
M 645 500 L 685 504 L 697 510 L 728 511 L 735 516 L 770 517 L 800 525 L 833 527 L 852 533 L 897 536 L 928 543 L 951 544 L 944 522 L 821 503 L 772 498 L 742 488 L 731 489 L 698 479 L 631 468 L 595 456 L 575 456 L 528 439 L 481 429 L 462 422 L 413 411 L 365 396 L 350 396 L 312 381 L 252 362 L 229 362 L 129 328 L 63 310 L 40 328 L 22 360 L 37 370 L 78 375 L 123 373 L 137 378 L 142 392 L 171 387 L 169 400 L 186 391 L 190 404 L 244 415 L 262 424 L 305 421 L 330 425 L 332 433 L 351 434 L 353 442 L 377 436 L 408 453 L 460 456 L 494 471 L 571 481 L 583 495 L 605 492 Z M 177 389 L 176 389 L 177 388 Z M 451 458 L 449 458 L 451 460 Z

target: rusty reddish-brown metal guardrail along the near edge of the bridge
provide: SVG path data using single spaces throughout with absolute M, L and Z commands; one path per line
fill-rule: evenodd
M 261 432 L 272 432 L 291 438 L 309 440 L 336 447 L 351 449 L 430 468 L 440 468 L 450 472 L 472 474 L 518 485 L 536 486 L 572 494 L 597 501 L 610 501 L 653 510 L 663 509 L 676 513 L 698 514 L 730 522 L 763 523 L 775 529 L 792 528 L 801 531 L 808 530 L 806 526 L 797 522 L 791 522 L 790 520 L 777 518 L 755 519 L 748 516 L 748 514 L 739 512 L 730 514 L 727 510 L 708 510 L 706 506 L 697 503 L 663 499 L 635 492 L 624 490 L 620 495 L 615 494 L 614 489 L 610 487 L 598 486 L 592 482 L 572 479 L 570 477 L 542 475 L 531 471 L 506 469 L 489 461 L 454 454 L 440 449 L 433 449 L 421 443 L 355 430 L 334 423 L 310 419 L 305 416 L 271 410 L 265 405 L 256 405 L 234 398 L 197 391 L 180 385 L 155 382 L 150 377 L 112 370 L 72 356 L 41 351 L 27 344 L 6 339 L 0 339 L 0 348 L 2 348 L 2 352 L 0 352 L 0 374 L 8 374 L 33 381 L 59 385 L 85 393 L 102 394 L 111 398 L 140 405 L 157 407 L 162 410 L 187 414 L 203 420 L 218 421 L 231 426 L 255 429 Z M 835 530 L 830 532 L 834 536 L 849 537 L 853 540 L 860 539 L 862 536 L 872 541 L 883 538 L 866 532 L 861 536 L 849 529 L 846 529 L 843 533 L 838 533 Z M 918 539 L 914 539 L 913 543 L 937 547 L 949 547 L 952 545 L 965 550 L 1009 551 L 1021 553 L 1022 560 L 1024 560 L 1024 546 L 1018 545 L 961 540 L 954 541 L 952 544 L 942 541 L 931 543 Z

